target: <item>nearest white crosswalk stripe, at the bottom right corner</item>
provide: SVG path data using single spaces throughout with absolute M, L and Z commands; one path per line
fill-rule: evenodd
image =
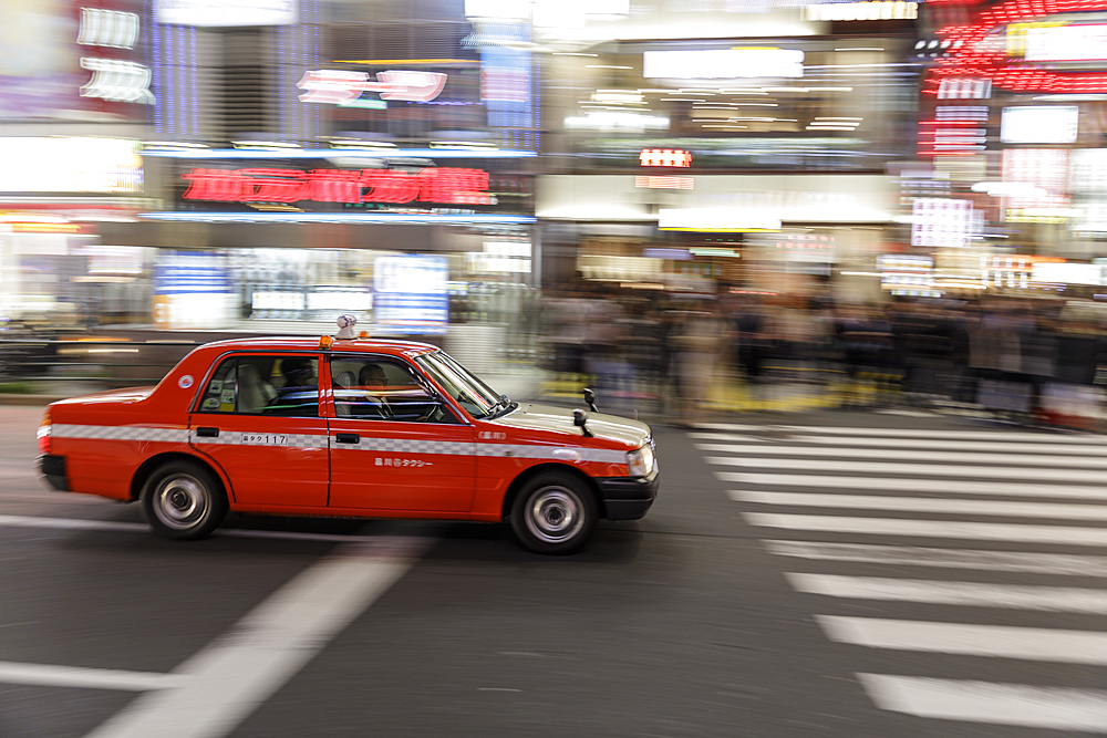
M 1107 693 L 960 679 L 858 674 L 877 707 L 919 717 L 1107 731 Z

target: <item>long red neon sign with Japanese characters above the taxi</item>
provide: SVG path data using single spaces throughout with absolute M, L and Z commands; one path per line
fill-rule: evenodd
M 186 200 L 221 202 L 451 202 L 488 205 L 488 173 L 430 167 L 392 169 L 193 169 Z

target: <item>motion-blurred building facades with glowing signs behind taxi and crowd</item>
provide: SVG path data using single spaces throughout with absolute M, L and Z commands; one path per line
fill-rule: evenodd
M 1103 284 L 1093 0 L 0 0 L 9 320 Z M 529 323 L 528 323 L 529 324 Z

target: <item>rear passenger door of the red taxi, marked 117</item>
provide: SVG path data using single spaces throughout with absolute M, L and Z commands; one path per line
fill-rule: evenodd
M 327 420 L 319 414 L 319 356 L 240 354 L 211 374 L 190 418 L 189 443 L 251 508 L 325 508 Z

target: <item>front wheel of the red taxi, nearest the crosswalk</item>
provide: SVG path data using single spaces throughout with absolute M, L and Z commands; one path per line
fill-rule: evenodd
M 587 485 L 561 471 L 527 481 L 511 505 L 511 529 L 536 553 L 563 555 L 579 551 L 592 536 L 596 497 Z

